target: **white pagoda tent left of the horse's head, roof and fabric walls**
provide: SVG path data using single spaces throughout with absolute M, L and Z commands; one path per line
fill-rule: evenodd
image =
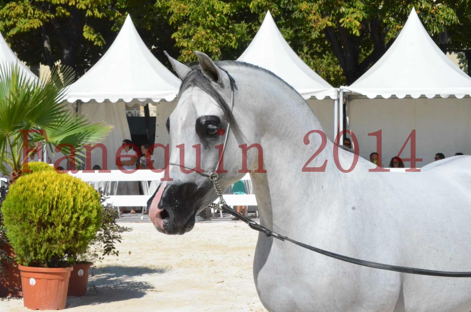
M 115 153 L 123 139 L 130 139 L 126 103 L 157 106 L 155 143 L 168 143 L 165 122 L 175 108 L 180 80 L 147 49 L 128 15 L 111 47 L 87 73 L 69 86 L 68 101 L 81 101 L 80 112 L 93 122 L 114 126 L 102 142 L 108 149 L 108 169 L 116 169 Z M 165 100 L 167 102 L 161 102 Z M 162 168 L 163 150 L 154 150 L 155 168 Z M 92 165 L 102 164 L 101 152 L 92 154 Z

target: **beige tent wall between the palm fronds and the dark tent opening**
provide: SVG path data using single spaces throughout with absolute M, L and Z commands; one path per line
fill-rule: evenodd
M 106 159 L 108 169 L 118 169 L 116 166 L 116 152 L 122 146 L 122 140 L 131 139 L 128 120 L 126 119 L 125 103 L 84 103 L 80 105 L 80 113 L 87 116 L 93 123 L 104 121 L 113 125 L 113 130 L 101 143 L 107 149 Z M 96 148 L 92 152 L 91 166 L 93 167 L 95 164 L 103 168 L 101 148 Z

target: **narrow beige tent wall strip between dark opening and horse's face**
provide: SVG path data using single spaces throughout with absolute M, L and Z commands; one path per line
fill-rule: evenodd
M 155 143 L 166 145 L 170 143 L 170 137 L 165 123 L 177 106 L 177 100 L 175 99 L 171 102 L 159 102 L 156 105 L 157 116 L 155 118 Z M 165 164 L 163 148 L 154 148 L 153 155 L 155 157 L 154 168 L 162 169 Z

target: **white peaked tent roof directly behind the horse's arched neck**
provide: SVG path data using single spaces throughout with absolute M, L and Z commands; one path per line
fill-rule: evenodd
M 337 90 L 307 66 L 284 40 L 270 11 L 267 11 L 255 38 L 237 60 L 268 69 L 289 83 L 304 99 L 311 96 L 317 99 L 326 96 L 337 98 Z

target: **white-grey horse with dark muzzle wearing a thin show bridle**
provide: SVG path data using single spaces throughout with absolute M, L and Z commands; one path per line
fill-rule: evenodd
M 183 173 L 196 166 L 210 173 L 227 138 L 222 189 L 240 180 L 242 144 L 248 151 L 261 225 L 289 238 L 363 260 L 442 271 L 471 271 L 471 157 L 429 164 L 419 173 L 368 172 L 362 159 L 349 173 L 334 162 L 334 144 L 309 163 L 324 172 L 302 172 L 321 146 L 322 130 L 306 102 L 286 82 L 257 66 L 216 64 L 195 52 L 199 66 L 172 59 L 182 80 L 178 105 L 167 129 L 171 137 L 170 177 L 149 200 L 157 230 L 183 234 L 195 214 L 217 195 L 207 176 Z M 235 82 L 231 100 L 231 82 Z M 232 106 L 231 103 L 234 103 Z M 185 156 L 180 152 L 185 143 Z M 179 147 L 177 147 L 179 145 Z M 349 168 L 354 155 L 340 149 Z M 263 156 L 265 173 L 254 173 Z M 183 164 L 184 161 L 184 164 Z M 221 233 L 224 235 L 224 233 Z M 227 238 L 230 239 L 230 238 Z M 253 278 L 262 304 L 271 312 L 469 312 L 471 278 L 422 276 L 384 271 L 319 255 L 259 233 Z

